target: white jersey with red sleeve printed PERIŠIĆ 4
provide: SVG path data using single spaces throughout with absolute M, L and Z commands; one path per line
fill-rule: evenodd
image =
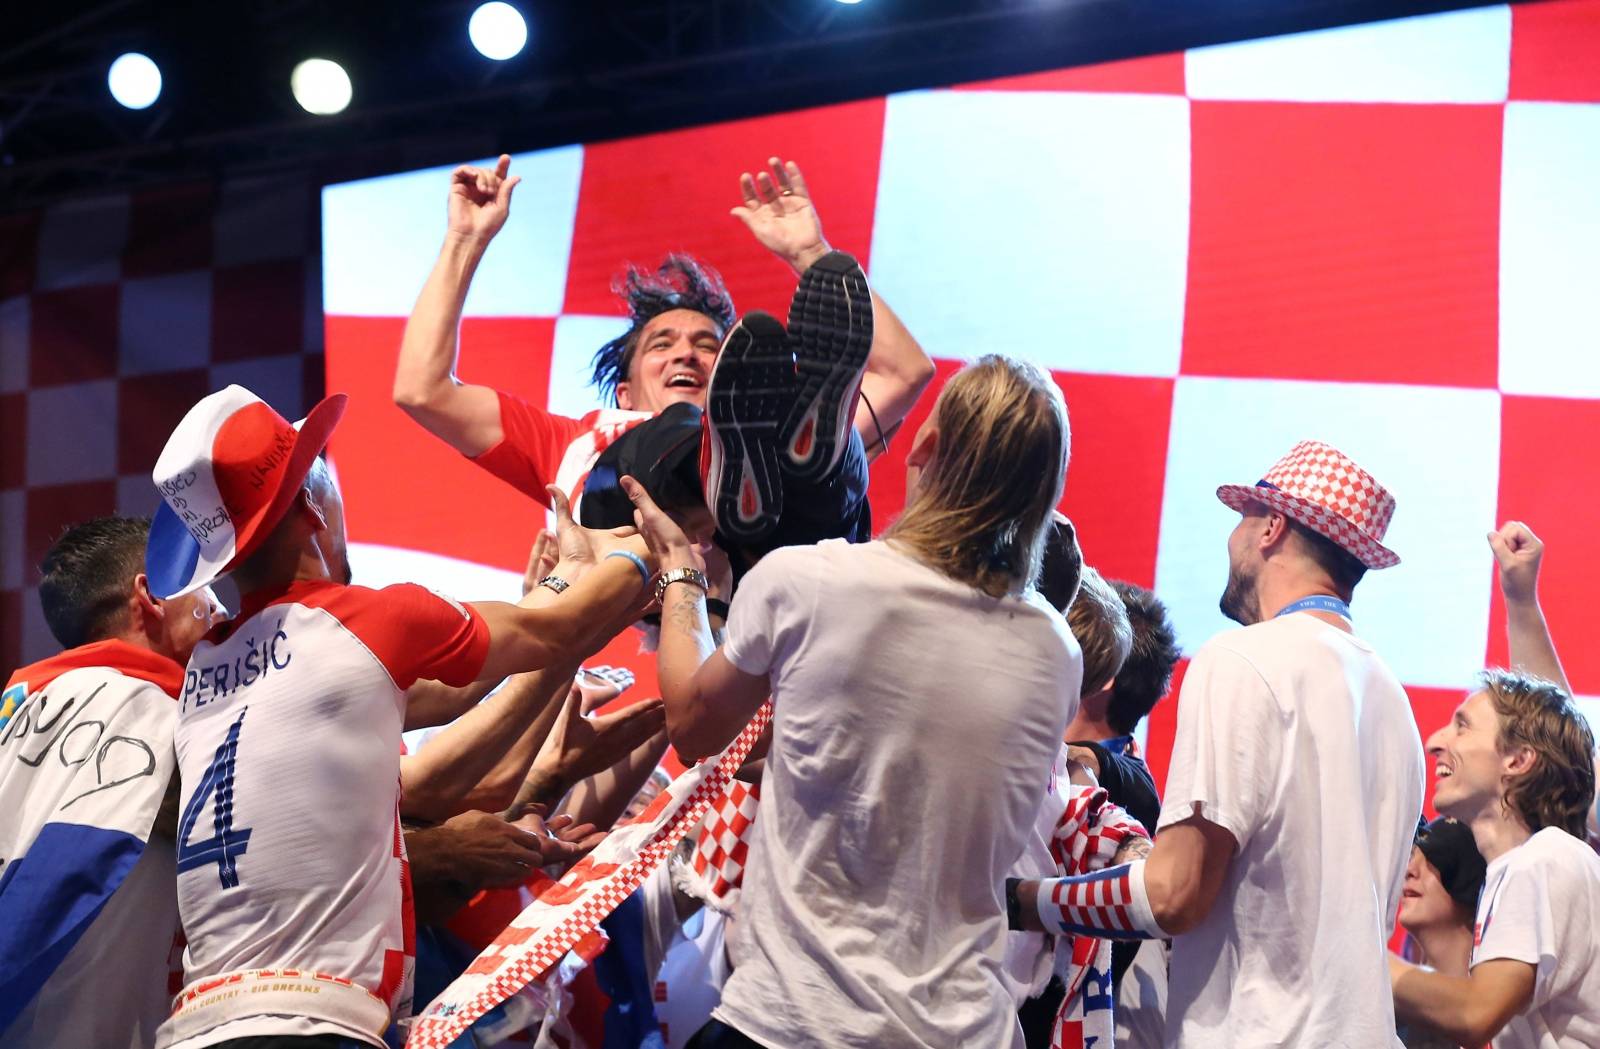
M 382 1044 L 414 955 L 405 689 L 467 684 L 486 654 L 483 619 L 422 587 L 314 580 L 250 595 L 195 648 L 176 736 L 189 985 L 158 1044 Z

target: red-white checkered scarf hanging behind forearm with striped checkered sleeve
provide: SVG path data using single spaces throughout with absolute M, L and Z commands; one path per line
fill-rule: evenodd
M 1067 808 L 1050 836 L 1058 875 L 1104 870 L 1128 838 L 1149 838 L 1144 825 L 1112 804 L 1104 788 L 1066 784 L 1062 793 Z M 1110 1049 L 1115 1041 L 1110 940 L 1088 935 L 1058 939 L 1056 975 L 1067 995 L 1056 1012 L 1050 1049 Z

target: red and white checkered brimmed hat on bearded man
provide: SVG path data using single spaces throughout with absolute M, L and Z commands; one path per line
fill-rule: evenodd
M 1395 497 L 1342 451 L 1301 441 L 1254 485 L 1222 485 L 1216 497 L 1234 510 L 1259 502 L 1320 532 L 1366 568 L 1390 568 L 1400 555 L 1384 545 Z

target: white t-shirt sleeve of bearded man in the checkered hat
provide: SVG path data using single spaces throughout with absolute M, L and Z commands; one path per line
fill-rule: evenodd
M 1157 827 L 1202 816 L 1240 849 L 1272 809 L 1283 721 L 1272 689 L 1238 652 L 1195 652 L 1178 697 L 1178 732 Z

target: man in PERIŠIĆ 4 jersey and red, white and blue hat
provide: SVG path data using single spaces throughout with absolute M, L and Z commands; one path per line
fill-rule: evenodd
M 582 659 L 654 571 L 638 539 L 573 532 L 522 606 L 347 585 L 344 501 L 318 457 L 344 403 L 333 395 L 291 424 L 227 387 L 184 416 L 152 475 L 165 501 L 146 558 L 158 588 L 229 574 L 240 593 L 237 617 L 190 654 L 178 710 L 189 985 L 163 1047 L 381 1047 L 410 1007 L 414 966 L 405 691 Z

